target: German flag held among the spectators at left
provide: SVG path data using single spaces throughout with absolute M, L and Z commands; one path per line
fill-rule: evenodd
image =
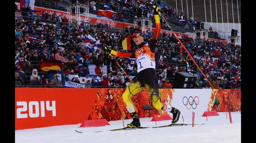
M 61 60 L 49 60 L 49 59 L 42 59 L 39 62 L 41 70 L 49 71 L 49 70 L 61 70 L 62 68 L 62 61 Z

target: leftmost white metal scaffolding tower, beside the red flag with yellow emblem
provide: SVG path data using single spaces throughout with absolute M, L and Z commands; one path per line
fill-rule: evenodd
M 84 13 L 80 12 L 80 9 L 83 8 L 84 9 Z M 82 15 L 85 16 L 85 19 L 89 20 L 89 6 L 85 5 L 85 4 L 79 4 L 79 3 L 75 3 L 75 4 L 70 4 L 67 5 L 67 15 L 68 15 L 68 20 L 70 20 L 72 22 L 72 9 L 75 9 L 75 20 L 77 21 L 77 24 L 80 25 L 81 21 L 82 21 Z

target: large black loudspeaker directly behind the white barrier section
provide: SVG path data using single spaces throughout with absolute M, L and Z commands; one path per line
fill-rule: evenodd
M 196 76 L 186 72 L 176 72 L 174 76 L 173 88 L 194 88 Z

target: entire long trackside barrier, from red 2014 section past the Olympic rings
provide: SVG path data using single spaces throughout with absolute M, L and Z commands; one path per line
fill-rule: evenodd
M 15 88 L 15 130 L 78 124 L 92 119 L 107 121 L 131 119 L 122 99 L 124 91 L 125 89 L 121 88 Z M 185 113 L 187 109 L 182 99 L 177 98 L 184 96 L 180 91 L 184 89 L 159 89 L 159 97 L 161 103 L 170 106 L 176 104 L 175 107 L 180 109 L 183 107 L 183 113 Z M 193 89 L 190 92 L 205 91 L 207 90 Z M 153 110 L 142 109 L 143 105 L 147 105 L 149 92 L 147 89 L 141 92 L 145 98 L 141 95 L 131 97 L 137 115 L 140 118 L 154 117 Z M 187 92 L 184 93 L 187 94 Z M 219 89 L 212 95 L 211 92 L 205 93 L 209 93 L 204 96 L 211 99 L 209 101 L 206 98 L 207 101 L 200 101 L 200 104 L 205 103 L 200 105 L 200 108 L 217 112 L 241 111 L 241 90 Z M 166 113 L 166 111 L 157 111 L 160 116 Z

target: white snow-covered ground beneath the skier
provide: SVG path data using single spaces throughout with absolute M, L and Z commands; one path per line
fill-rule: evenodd
M 239 143 L 241 142 L 241 112 L 232 112 L 232 124 L 226 118 L 226 112 L 220 116 L 201 117 L 196 115 L 194 123 L 179 127 L 147 128 L 130 131 L 107 131 L 123 128 L 123 122 L 110 121 L 110 126 L 78 128 L 80 124 L 52 126 L 15 131 L 16 143 Z M 171 115 L 171 114 L 170 114 Z M 171 115 L 172 116 L 172 115 Z M 152 118 L 140 118 L 142 127 L 155 127 Z M 124 120 L 125 125 L 132 119 Z M 170 124 L 171 120 L 158 121 L 157 126 Z M 178 123 L 183 123 L 182 116 Z M 184 123 L 192 123 L 192 114 L 184 117 Z M 81 131 L 84 133 L 77 133 Z M 94 132 L 102 131 L 102 132 Z

